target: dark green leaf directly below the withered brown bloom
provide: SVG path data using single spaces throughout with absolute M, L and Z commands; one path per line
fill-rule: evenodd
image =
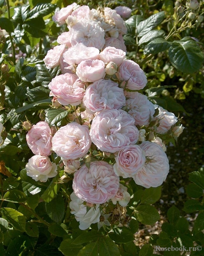
M 128 243 L 134 240 L 133 233 L 130 230 L 126 228 L 118 228 L 117 230 L 118 234 L 115 234 L 114 232 L 108 233 L 108 236 L 116 243 Z

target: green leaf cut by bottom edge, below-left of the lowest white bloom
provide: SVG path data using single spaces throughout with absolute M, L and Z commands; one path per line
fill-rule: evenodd
M 83 248 L 80 244 L 73 244 L 73 240 L 66 238 L 62 241 L 60 244 L 59 250 L 65 255 L 65 256 L 76 256 L 77 253 Z

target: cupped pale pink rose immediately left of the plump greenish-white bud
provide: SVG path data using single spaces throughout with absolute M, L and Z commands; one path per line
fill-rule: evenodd
M 76 74 L 83 82 L 94 82 L 105 76 L 105 64 L 102 60 L 83 60 L 77 66 Z

